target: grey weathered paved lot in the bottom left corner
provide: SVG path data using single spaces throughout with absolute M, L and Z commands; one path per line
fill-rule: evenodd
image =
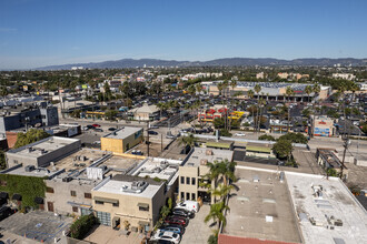
M 71 222 L 71 217 L 59 217 L 53 213 L 34 211 L 27 214 L 16 213 L 7 217 L 0 222 L 0 228 L 27 240 L 53 243 L 54 238 L 62 236 L 62 231 L 67 230 Z

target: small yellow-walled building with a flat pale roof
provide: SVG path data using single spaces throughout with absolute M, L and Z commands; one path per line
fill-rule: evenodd
M 101 138 L 101 150 L 125 153 L 143 141 L 142 128 L 125 126 Z

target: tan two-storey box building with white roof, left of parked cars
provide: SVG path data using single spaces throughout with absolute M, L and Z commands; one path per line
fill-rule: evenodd
M 165 183 L 118 174 L 103 180 L 92 191 L 92 205 L 100 223 L 113 228 L 150 231 L 159 220 L 165 201 Z

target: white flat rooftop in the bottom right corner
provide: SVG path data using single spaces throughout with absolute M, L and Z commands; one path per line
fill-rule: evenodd
M 305 243 L 366 243 L 367 212 L 339 179 L 292 172 L 286 179 Z M 343 226 L 333 225 L 331 216 Z

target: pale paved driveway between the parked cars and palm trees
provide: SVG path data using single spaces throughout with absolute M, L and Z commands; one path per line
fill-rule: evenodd
M 208 215 L 210 211 L 209 205 L 202 205 L 199 213 L 191 218 L 189 225 L 186 227 L 185 234 L 182 236 L 181 244 L 207 244 L 209 236 L 212 234 L 212 228 L 209 227 L 211 222 L 208 224 L 204 223 L 204 218 Z

